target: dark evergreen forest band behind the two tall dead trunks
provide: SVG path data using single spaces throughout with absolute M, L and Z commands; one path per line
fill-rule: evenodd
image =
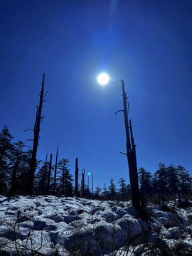
M 31 166 L 32 150 L 21 141 L 12 143 L 12 135 L 4 126 L 0 132 L 0 194 L 16 196 L 26 194 L 28 172 Z M 75 171 L 78 170 L 76 159 Z M 55 196 L 84 196 L 85 198 L 100 198 L 105 200 L 131 199 L 130 184 L 124 178 L 119 178 L 117 184 L 110 180 L 110 186 L 96 187 L 95 191 L 85 184 L 85 170 L 80 173 L 80 183 L 75 189 L 73 175 L 70 173 L 70 161 L 58 159 L 58 148 L 54 159 L 52 154 L 36 161 L 36 172 L 33 181 L 33 194 Z M 75 182 L 77 183 L 77 181 Z M 166 166 L 160 163 L 158 169 L 151 174 L 143 167 L 139 169 L 139 191 L 143 196 L 153 195 L 190 195 L 192 193 L 192 178 L 183 166 Z

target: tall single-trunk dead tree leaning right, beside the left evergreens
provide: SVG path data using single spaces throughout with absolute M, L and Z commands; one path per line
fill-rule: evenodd
M 34 174 L 36 171 L 36 154 L 37 154 L 37 148 L 38 148 L 38 137 L 40 132 L 40 124 L 43 122 L 43 118 L 41 117 L 43 102 L 46 100 L 43 100 L 44 97 L 46 97 L 46 94 L 44 95 L 44 84 L 45 84 L 45 73 L 43 73 L 43 80 L 41 82 L 41 92 L 40 92 L 40 100 L 39 105 L 36 106 L 37 112 L 36 112 L 36 122 L 33 128 L 34 132 L 34 138 L 33 138 L 33 150 L 32 150 L 32 156 L 31 156 L 31 165 L 28 172 L 28 183 L 26 186 L 26 193 L 28 195 L 31 195 L 33 191 L 33 180 L 34 180 Z M 47 92 L 46 92 L 47 93 Z

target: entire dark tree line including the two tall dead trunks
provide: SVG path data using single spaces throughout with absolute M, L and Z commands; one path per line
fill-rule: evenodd
M 43 122 L 42 116 L 43 102 L 46 102 L 44 93 L 45 73 L 41 82 L 41 91 L 39 94 L 39 104 L 36 106 L 36 121 L 33 129 L 33 148 L 27 149 L 21 142 L 11 143 L 11 133 L 8 127 L 4 126 L 0 133 L 0 193 L 6 196 L 16 194 L 52 194 L 55 196 L 83 196 L 117 200 L 132 199 L 132 204 L 137 210 L 140 210 L 140 199 L 154 194 L 163 195 L 164 193 L 174 195 L 176 193 L 191 193 L 191 176 L 183 166 L 159 164 L 159 169 L 152 175 L 144 168 L 139 169 L 139 180 L 137 174 L 137 160 L 132 132 L 132 123 L 128 118 L 129 97 L 124 90 L 124 81 L 122 82 L 124 123 L 126 127 L 127 138 L 127 160 L 129 164 L 130 184 L 127 184 L 124 178 L 118 182 L 119 188 L 115 186 L 113 179 L 110 180 L 110 186 L 106 188 L 96 188 L 95 193 L 90 191 L 89 186 L 85 185 L 85 169 L 79 174 L 78 159 L 75 161 L 75 188 L 73 188 L 73 175 L 70 174 L 70 161 L 68 159 L 58 160 L 58 149 L 56 159 L 53 164 L 52 154 L 46 156 L 45 161 L 36 159 L 38 149 L 38 138 L 40 126 Z M 128 124 L 129 121 L 129 124 Z M 28 129 L 26 129 L 28 130 Z M 49 158 L 49 159 L 48 159 Z M 81 176 L 81 183 L 78 183 L 78 177 Z M 141 194 L 139 196 L 139 193 Z

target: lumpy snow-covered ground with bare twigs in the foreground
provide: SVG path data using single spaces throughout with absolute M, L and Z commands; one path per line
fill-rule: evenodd
M 146 216 L 131 202 L 0 196 L 0 255 L 192 255 L 192 207 L 149 204 Z

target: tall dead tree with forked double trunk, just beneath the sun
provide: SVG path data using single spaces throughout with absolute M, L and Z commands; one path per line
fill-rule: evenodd
M 127 97 L 127 93 L 124 90 L 124 80 L 120 80 L 122 82 L 122 97 L 123 97 L 123 107 L 124 110 L 119 110 L 115 112 L 115 115 L 118 112 L 124 113 L 124 124 L 125 124 L 125 132 L 126 132 L 126 147 L 127 153 L 122 153 L 127 155 L 128 166 L 129 166 L 129 179 L 131 185 L 131 194 L 132 194 L 132 205 L 137 209 L 140 210 L 140 200 L 139 200 L 139 181 L 138 181 L 138 173 L 137 173 L 137 159 L 136 159 L 136 151 L 135 151 L 135 144 L 134 144 L 134 137 L 132 133 L 132 123 L 129 120 L 128 124 L 128 113 L 129 113 L 129 102 Z

